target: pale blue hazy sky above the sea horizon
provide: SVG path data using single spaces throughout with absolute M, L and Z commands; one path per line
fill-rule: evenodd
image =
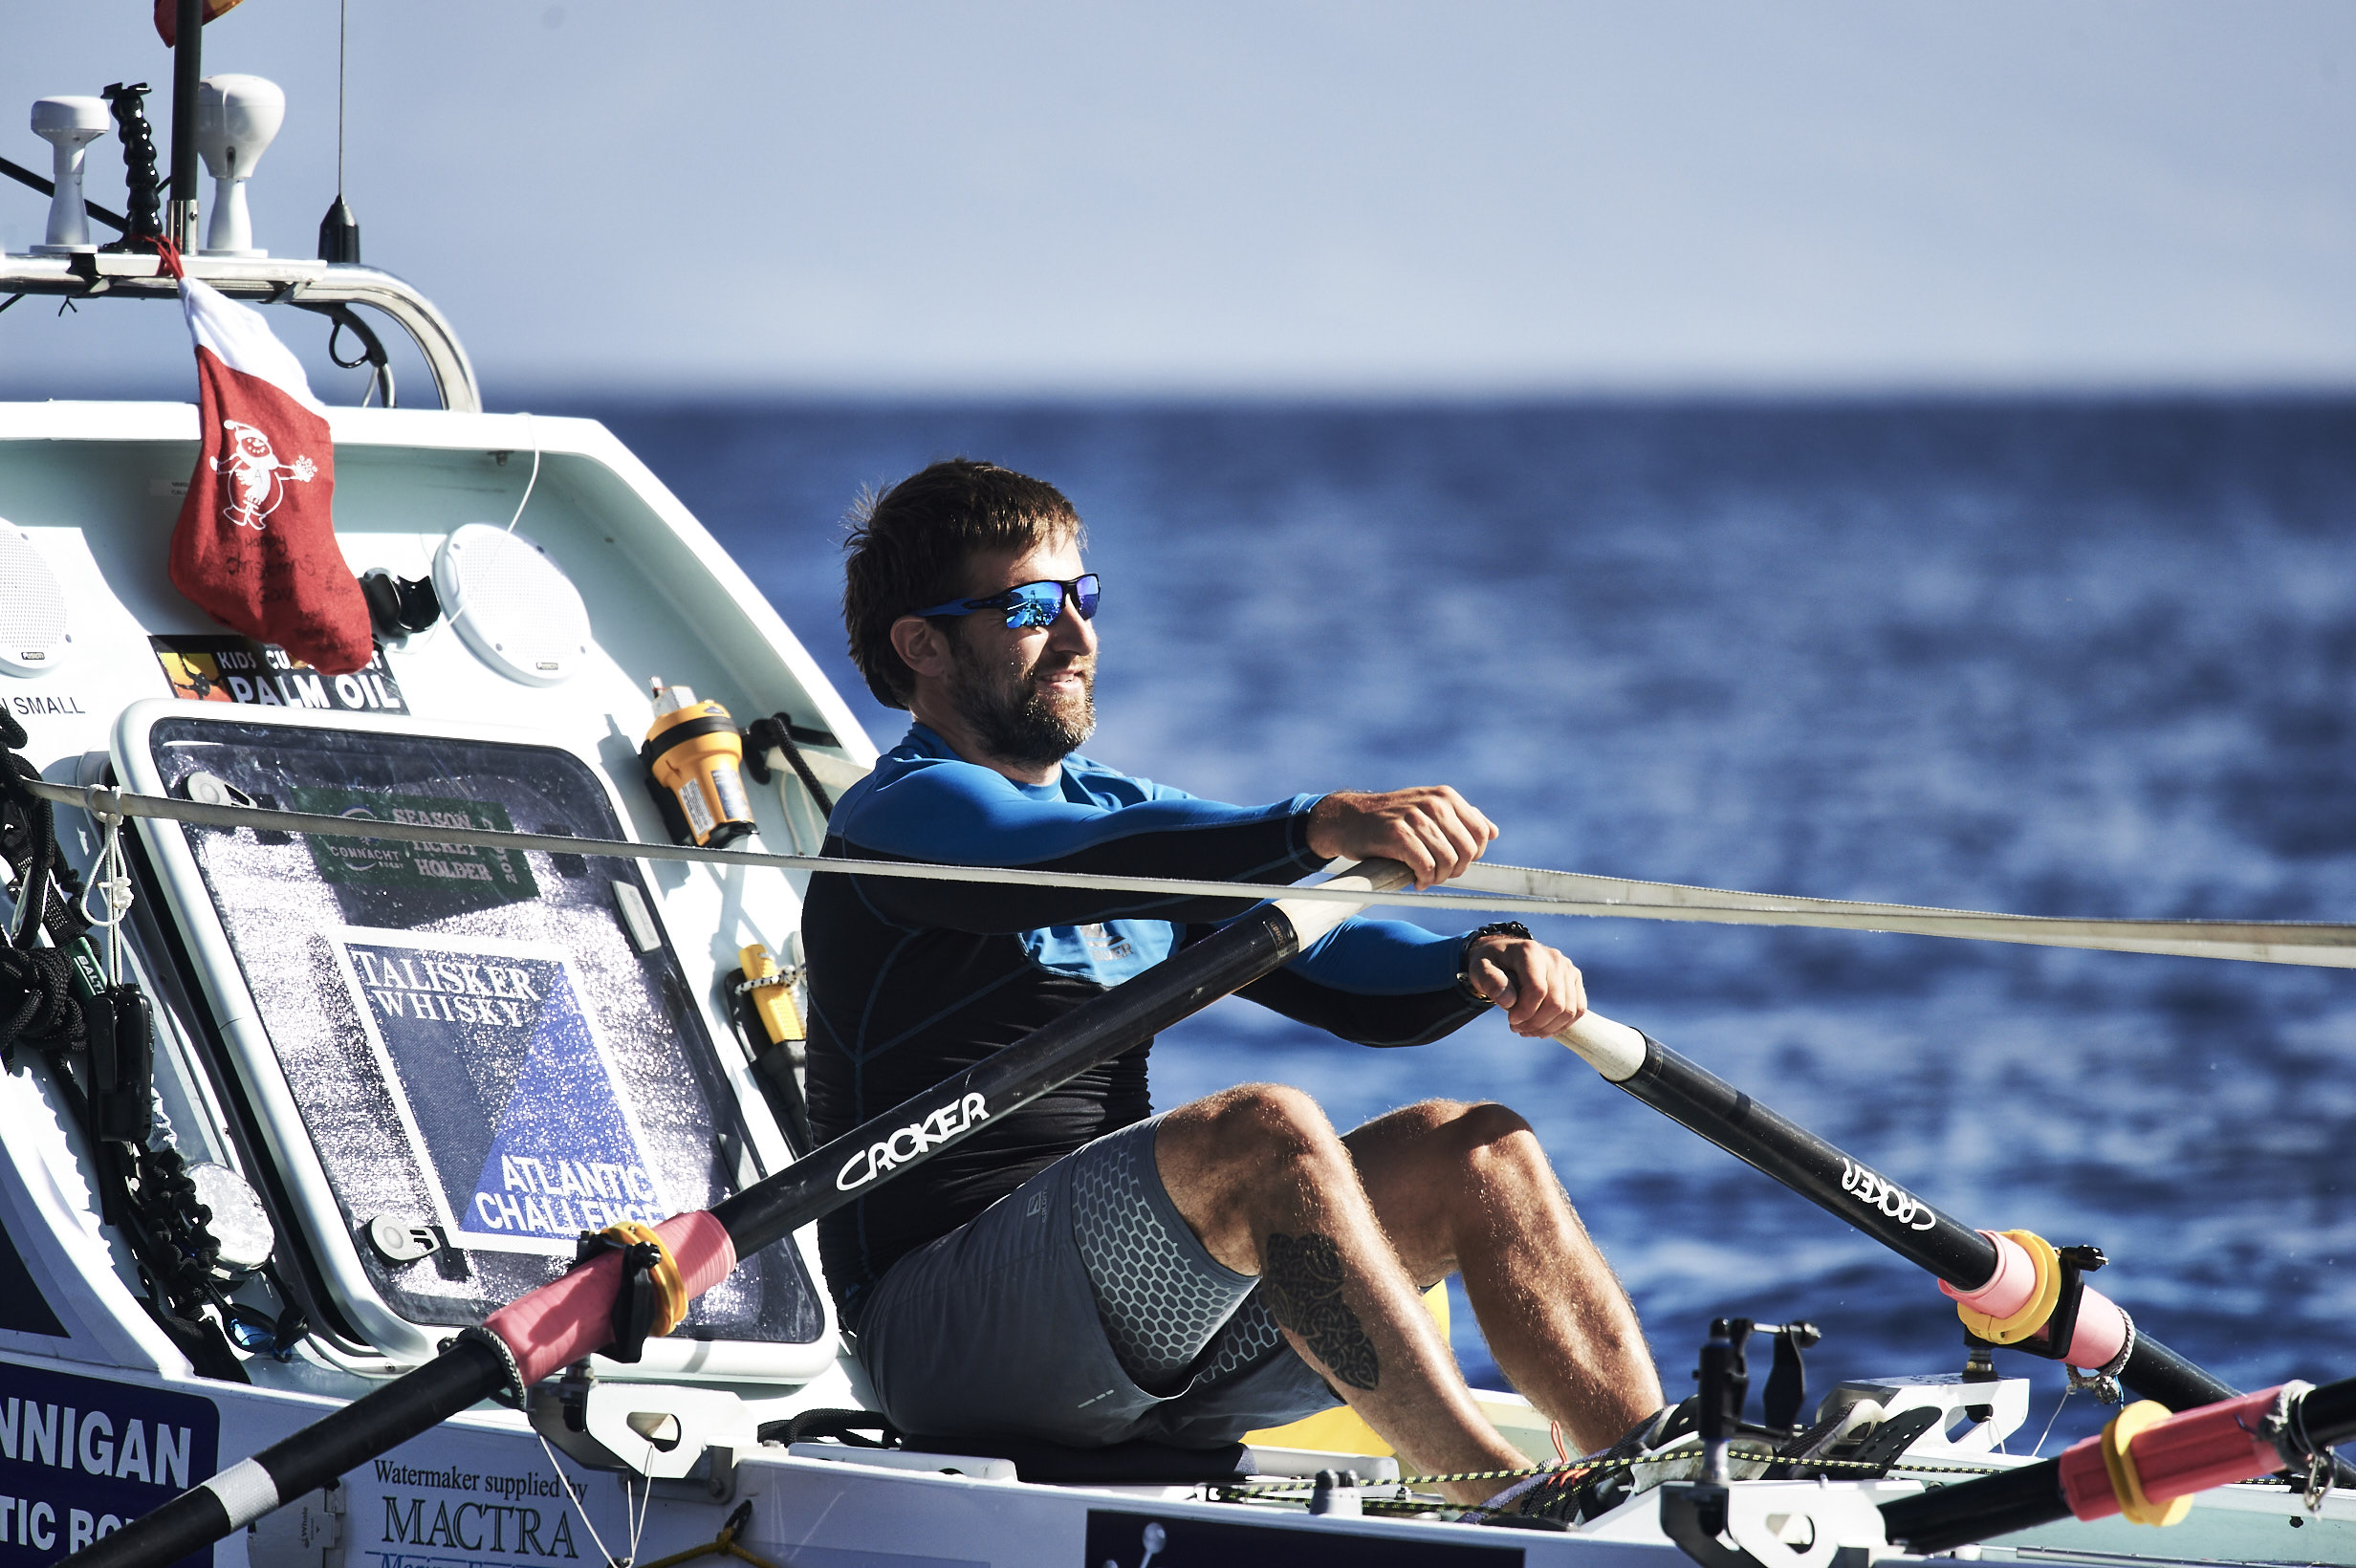
M 0 151 L 167 87 L 146 12 L 0 0 Z M 335 2 L 207 68 L 287 89 L 311 254 Z M 2349 386 L 2351 71 L 2340 2 L 353 0 L 346 186 L 495 398 Z M 52 311 L 0 391 L 186 348 Z

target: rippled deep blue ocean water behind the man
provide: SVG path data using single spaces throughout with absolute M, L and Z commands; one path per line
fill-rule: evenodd
M 1230 800 L 1449 782 L 1498 859 L 2078 916 L 2356 913 L 2356 403 L 589 407 L 841 657 L 841 518 L 1055 480 L 1105 574 L 1091 753 Z M 2356 975 L 1550 921 L 1595 1005 L 2255 1387 L 2356 1370 Z M 1953 1370 L 1930 1281 L 1494 1019 L 1409 1052 L 1220 1003 L 1157 1099 L 1531 1118 L 1663 1382 L 1715 1314 Z M 1458 1295 L 1456 1349 L 1494 1366 Z M 2059 1391 L 2038 1380 L 2043 1422 Z M 2059 1434 L 2094 1424 L 2073 1401 Z

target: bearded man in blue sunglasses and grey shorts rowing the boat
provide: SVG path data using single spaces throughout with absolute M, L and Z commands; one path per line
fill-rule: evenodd
M 1098 579 L 1053 487 L 942 461 L 862 509 L 843 622 L 914 725 L 834 808 L 827 855 L 1279 885 L 1496 829 L 1454 789 L 1197 800 L 1077 756 Z M 1246 899 L 810 878 L 810 1118 L 834 1137 L 1235 918 Z M 1242 996 L 1362 1045 L 1489 1005 L 1569 1026 L 1579 970 L 1517 925 L 1348 921 Z M 1505 1377 L 1581 1448 L 1661 1406 L 1626 1293 L 1529 1123 L 1428 1099 L 1336 1132 L 1301 1090 L 1152 1116 L 1140 1043 L 820 1222 L 884 1413 L 928 1436 L 1218 1446 L 1336 1403 L 1430 1471 L 1522 1469 L 1418 1293 L 1456 1274 Z M 1494 1483 L 1447 1488 L 1480 1502 Z

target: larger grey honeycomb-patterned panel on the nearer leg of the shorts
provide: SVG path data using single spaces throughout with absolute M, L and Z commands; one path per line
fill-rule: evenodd
M 1121 1370 L 1140 1389 L 1169 1394 L 1185 1387 L 1211 1335 L 1258 1281 L 1227 1276 L 1202 1243 L 1171 1234 L 1147 1189 L 1162 1182 L 1152 1158 L 1154 1123 L 1081 1149 L 1072 1168 L 1072 1238 Z

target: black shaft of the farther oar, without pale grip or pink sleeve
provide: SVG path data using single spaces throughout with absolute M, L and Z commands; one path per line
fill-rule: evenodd
M 1892 1187 L 1864 1161 L 1652 1036 L 1644 1036 L 1644 1064 L 1619 1085 L 1958 1290 L 1977 1290 L 1996 1274 L 1996 1243 L 1977 1229 Z M 2212 1406 L 2238 1391 L 2142 1328 L 2118 1377 L 2170 1410 Z

